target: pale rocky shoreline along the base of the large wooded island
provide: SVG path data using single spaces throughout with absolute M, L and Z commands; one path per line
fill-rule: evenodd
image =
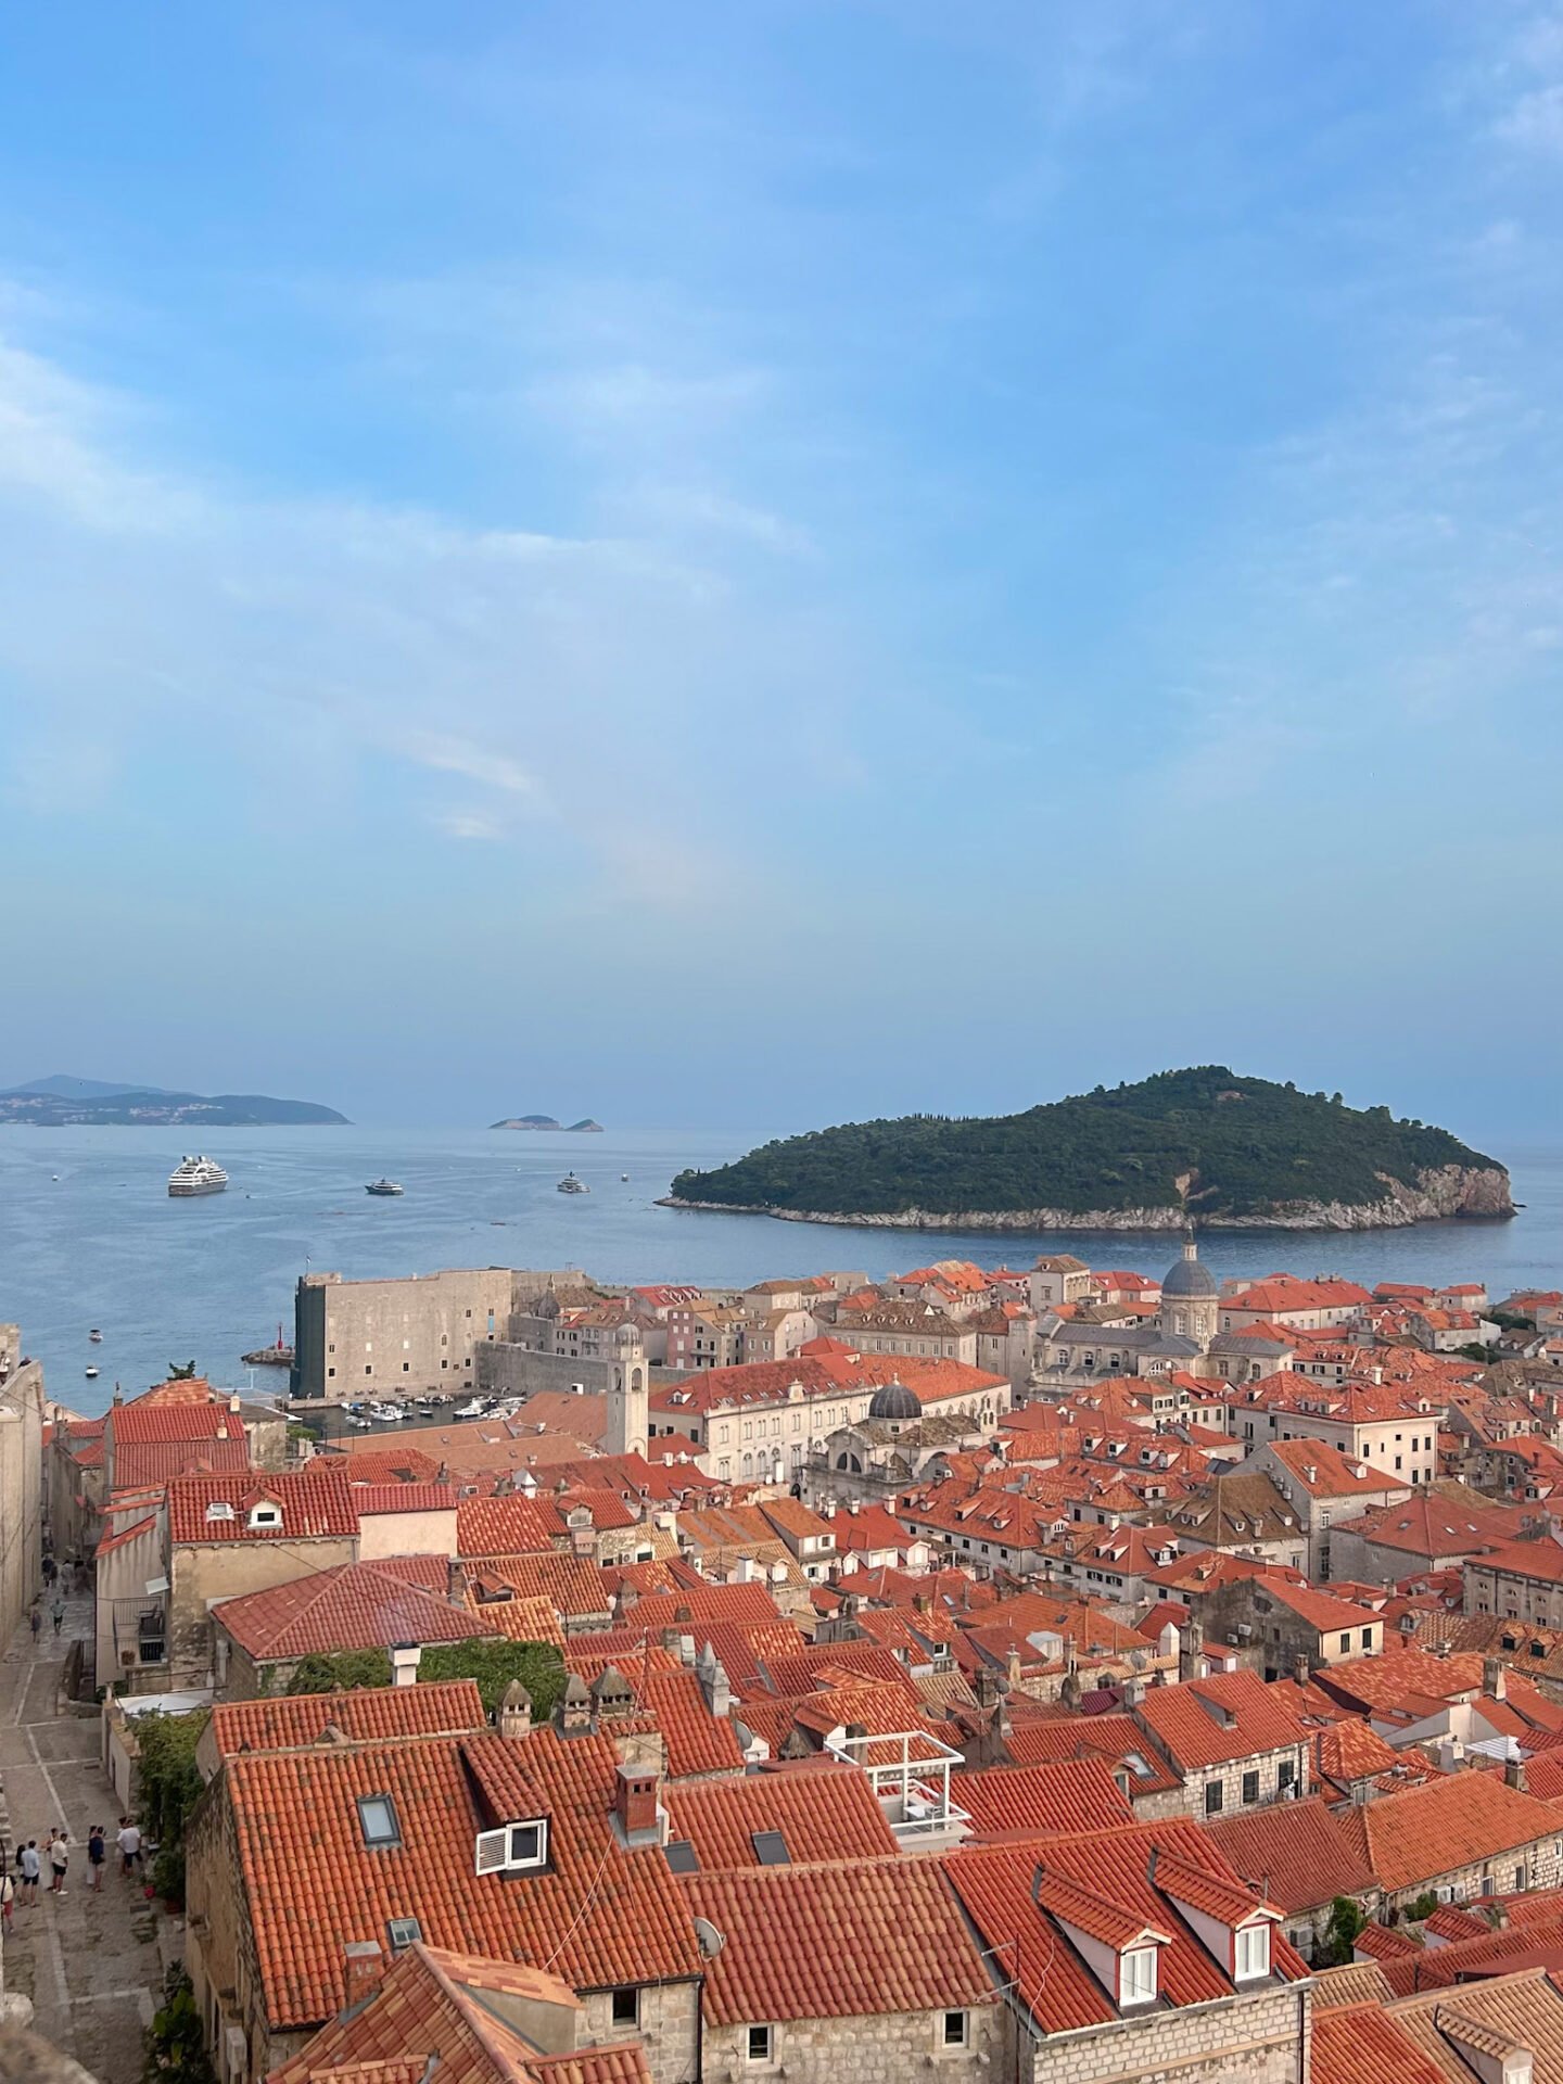
M 1382 1177 L 1382 1175 L 1380 1175 Z M 1500 1165 L 1444 1165 L 1417 1175 L 1415 1188 L 1384 1180 L 1371 1202 L 1288 1200 L 1257 1215 L 1200 1215 L 1188 1207 L 1144 1209 L 967 1209 L 940 1215 L 902 1209 L 896 1215 L 827 1215 L 819 1209 L 773 1209 L 763 1202 L 681 1200 L 665 1194 L 659 1209 L 706 1209 L 717 1215 L 773 1215 L 784 1223 L 838 1223 L 850 1230 L 1405 1230 L 1411 1223 L 1507 1221 L 1515 1213 L 1509 1173 Z

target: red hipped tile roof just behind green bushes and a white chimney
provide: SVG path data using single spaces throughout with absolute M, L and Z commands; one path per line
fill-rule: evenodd
M 444 1561 L 431 1561 L 444 1578 Z M 479 1615 L 411 1582 L 394 1563 L 338 1563 L 265 1592 L 223 1598 L 213 1619 L 256 1661 L 496 1634 Z

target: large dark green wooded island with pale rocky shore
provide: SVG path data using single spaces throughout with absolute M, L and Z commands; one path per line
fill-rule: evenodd
M 1023 1115 L 909 1115 L 684 1171 L 671 1207 L 927 1230 L 1371 1230 L 1513 1215 L 1509 1173 L 1444 1130 L 1225 1065 Z

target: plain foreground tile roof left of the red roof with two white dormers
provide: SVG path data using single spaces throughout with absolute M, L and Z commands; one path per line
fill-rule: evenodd
M 725 1936 L 704 1963 L 713 2026 L 996 2005 L 940 1861 L 832 1861 L 694 1876 Z

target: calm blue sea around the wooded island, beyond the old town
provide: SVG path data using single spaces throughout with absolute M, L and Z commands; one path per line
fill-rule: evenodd
M 23 1328 L 48 1388 L 102 1411 L 190 1361 L 244 1384 L 240 1353 L 292 1338 L 292 1294 L 306 1267 L 348 1277 L 471 1265 L 579 1265 L 604 1280 L 744 1284 L 771 1273 L 861 1267 L 871 1277 L 929 1259 L 1027 1265 L 1073 1250 L 1098 1267 L 1161 1271 L 1167 1236 L 994 1236 L 777 1223 L 763 1215 L 659 1209 L 684 1165 L 717 1165 L 769 1132 L 675 1130 L 536 1136 L 500 1130 L 223 1130 L 210 1155 L 227 1194 L 169 1200 L 185 1130 L 0 1130 L 0 1319 Z M 1494 1294 L 1563 1286 L 1563 1150 L 1511 1152 L 1511 1223 L 1428 1223 L 1361 1236 L 1215 1232 L 1200 1242 L 1217 1275 L 1342 1273 L 1380 1280 L 1486 1280 Z M 573 1167 L 592 1188 L 554 1190 Z M 390 1173 L 406 1192 L 371 1200 Z M 629 1182 L 621 1180 L 629 1173 Z M 88 1344 L 100 1325 L 102 1346 Z M 96 1361 L 98 1382 L 83 1369 Z M 281 1378 L 256 1371 L 256 1388 Z

